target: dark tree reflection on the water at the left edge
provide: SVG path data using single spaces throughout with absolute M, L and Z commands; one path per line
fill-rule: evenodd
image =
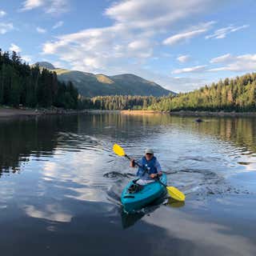
M 77 131 L 78 117 L 11 118 L 0 120 L 0 176 L 17 172 L 30 155 L 53 154 L 59 130 Z

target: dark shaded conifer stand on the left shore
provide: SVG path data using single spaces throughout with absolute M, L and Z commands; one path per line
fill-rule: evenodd
M 0 105 L 78 108 L 78 90 L 57 74 L 29 66 L 16 53 L 0 49 Z

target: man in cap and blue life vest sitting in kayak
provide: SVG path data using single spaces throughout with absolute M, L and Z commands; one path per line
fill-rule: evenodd
M 138 185 L 154 182 L 154 178 L 162 175 L 162 168 L 154 156 L 154 150 L 146 149 L 145 155 L 137 163 L 140 166 L 137 171 L 138 180 L 136 180 Z M 135 167 L 134 159 L 130 161 L 130 167 Z

